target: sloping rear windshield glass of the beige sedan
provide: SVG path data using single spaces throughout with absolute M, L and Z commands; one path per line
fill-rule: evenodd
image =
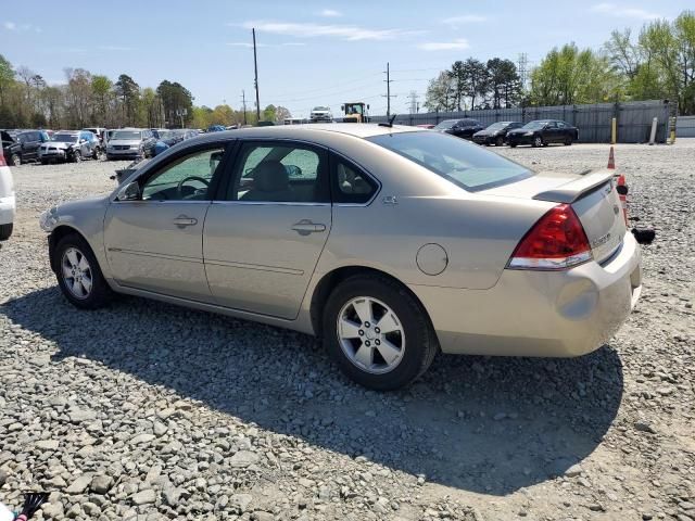
M 494 152 L 444 134 L 401 132 L 367 139 L 471 192 L 533 175 L 532 170 Z

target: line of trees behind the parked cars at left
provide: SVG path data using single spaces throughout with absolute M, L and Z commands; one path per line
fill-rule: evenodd
M 141 87 L 122 74 L 114 81 L 84 68 L 65 68 L 65 82 L 49 85 L 26 66 L 14 67 L 0 54 L 0 128 L 193 127 L 255 124 L 255 112 L 227 104 L 194 106 L 192 93 L 178 81 L 164 79 L 156 88 Z M 268 105 L 262 118 L 290 117 L 282 106 Z

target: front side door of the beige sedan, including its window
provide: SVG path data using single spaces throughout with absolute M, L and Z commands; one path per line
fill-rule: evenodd
M 182 150 L 138 178 L 137 196 L 111 203 L 104 246 L 118 284 L 211 300 L 202 234 L 226 147 L 218 142 Z

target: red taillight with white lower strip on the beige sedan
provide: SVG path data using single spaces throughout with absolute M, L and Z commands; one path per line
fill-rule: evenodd
M 569 204 L 558 204 L 521 239 L 507 268 L 567 269 L 592 258 L 579 217 Z

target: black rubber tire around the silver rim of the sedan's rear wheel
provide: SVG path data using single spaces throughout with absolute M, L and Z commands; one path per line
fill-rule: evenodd
M 389 306 L 403 328 L 403 357 L 388 372 L 375 374 L 357 367 L 341 346 L 338 336 L 339 315 L 343 306 L 359 296 L 376 298 Z M 422 306 L 401 284 L 379 275 L 356 275 L 333 289 L 324 309 L 321 331 L 324 345 L 341 371 L 356 383 L 375 391 L 391 391 L 408 385 L 430 367 L 439 351 L 437 336 Z

